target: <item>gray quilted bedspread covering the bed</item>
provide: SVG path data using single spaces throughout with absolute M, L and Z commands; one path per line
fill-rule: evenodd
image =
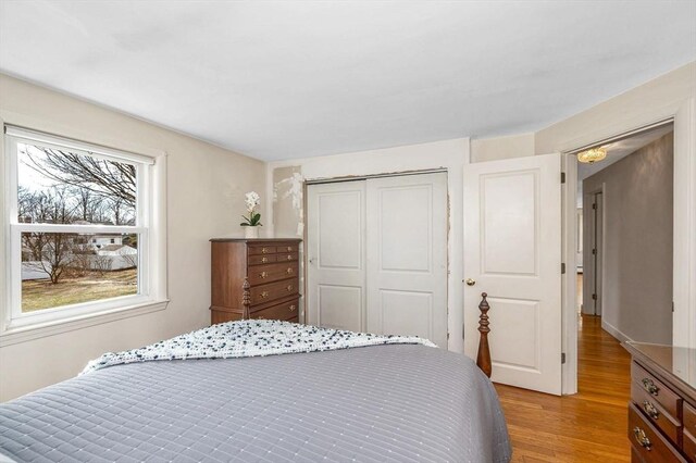
M 112 366 L 0 404 L 18 462 L 507 462 L 469 359 L 394 345 Z M 2 461 L 2 458 L 0 458 Z

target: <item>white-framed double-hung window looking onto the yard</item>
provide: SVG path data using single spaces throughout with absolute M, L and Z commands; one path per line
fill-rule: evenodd
M 156 159 L 11 126 L 5 134 L 3 328 L 163 299 L 150 265 Z

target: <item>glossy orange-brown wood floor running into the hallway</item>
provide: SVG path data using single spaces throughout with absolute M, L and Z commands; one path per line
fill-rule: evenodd
M 555 397 L 496 385 L 512 440 L 512 462 L 629 462 L 627 352 L 583 315 L 579 333 L 577 387 Z

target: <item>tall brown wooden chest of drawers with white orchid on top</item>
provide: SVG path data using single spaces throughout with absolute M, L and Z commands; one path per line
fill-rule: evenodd
M 211 324 L 298 322 L 299 239 L 211 239 Z

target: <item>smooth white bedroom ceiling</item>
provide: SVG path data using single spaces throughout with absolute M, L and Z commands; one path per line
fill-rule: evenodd
M 10 1 L 0 71 L 262 160 L 537 130 L 696 60 L 696 1 Z

